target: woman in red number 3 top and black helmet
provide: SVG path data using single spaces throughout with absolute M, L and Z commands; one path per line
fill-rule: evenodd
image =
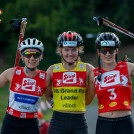
M 95 44 L 99 56 L 99 67 L 94 70 L 99 107 L 96 134 L 134 134 L 131 117 L 134 64 L 117 62 L 120 41 L 114 33 L 101 33 Z

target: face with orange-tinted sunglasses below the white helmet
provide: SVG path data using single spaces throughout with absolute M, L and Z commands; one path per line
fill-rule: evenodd
M 41 52 L 37 49 L 26 49 L 21 55 L 25 65 L 29 68 L 35 68 L 41 60 Z

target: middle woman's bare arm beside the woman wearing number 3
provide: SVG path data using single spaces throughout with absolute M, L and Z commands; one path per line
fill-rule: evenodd
M 88 105 L 92 102 L 96 92 L 94 87 L 94 67 L 90 64 L 87 64 L 87 76 L 88 76 L 88 86 L 85 94 L 85 104 Z

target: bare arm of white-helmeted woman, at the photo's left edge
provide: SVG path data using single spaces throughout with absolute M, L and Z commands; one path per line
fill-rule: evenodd
M 9 68 L 0 74 L 0 88 L 6 85 L 8 82 L 11 83 L 15 68 Z

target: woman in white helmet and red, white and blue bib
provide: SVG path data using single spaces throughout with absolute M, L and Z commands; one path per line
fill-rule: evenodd
M 20 45 L 20 54 L 25 67 L 7 69 L 0 75 L 0 87 L 10 83 L 9 103 L 1 134 L 39 134 L 37 110 L 46 90 L 49 75 L 38 70 L 44 47 L 41 41 L 28 38 Z

